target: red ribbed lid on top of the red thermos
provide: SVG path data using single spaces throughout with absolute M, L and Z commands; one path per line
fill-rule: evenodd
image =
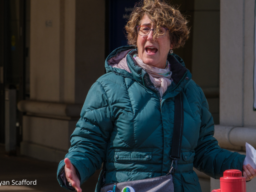
M 220 177 L 221 182 L 243 182 L 245 181 L 245 177 L 242 176 L 242 172 L 240 170 L 227 170 L 224 171 L 223 177 Z

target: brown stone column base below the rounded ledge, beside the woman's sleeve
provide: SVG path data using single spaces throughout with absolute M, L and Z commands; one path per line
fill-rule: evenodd
M 76 120 L 23 116 L 21 154 L 40 160 L 59 162 L 70 147 Z

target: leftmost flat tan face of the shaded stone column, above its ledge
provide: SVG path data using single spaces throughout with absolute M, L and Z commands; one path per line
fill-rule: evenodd
M 39 14 L 40 13 L 40 14 Z M 30 98 L 59 101 L 60 0 L 31 1 Z M 46 27 L 46 21 L 52 27 Z

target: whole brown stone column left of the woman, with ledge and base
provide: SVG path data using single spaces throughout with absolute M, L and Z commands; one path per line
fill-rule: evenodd
M 105 1 L 31 1 L 30 100 L 21 154 L 62 160 L 91 85 L 105 73 Z

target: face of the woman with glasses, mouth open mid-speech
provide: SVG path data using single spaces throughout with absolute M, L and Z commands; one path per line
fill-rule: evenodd
M 151 24 L 146 14 L 143 16 L 140 26 L 147 26 L 151 29 L 155 28 L 155 25 Z M 167 31 L 164 37 L 156 38 L 155 41 L 153 40 L 153 35 L 153 31 L 150 31 L 147 36 L 138 34 L 137 47 L 139 58 L 143 60 L 144 64 L 164 69 L 167 55 L 172 48 L 169 32 Z

